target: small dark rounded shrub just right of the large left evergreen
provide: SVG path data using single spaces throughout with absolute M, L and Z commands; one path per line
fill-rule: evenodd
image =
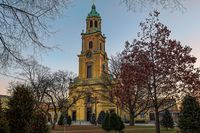
M 49 127 L 47 126 L 47 117 L 41 111 L 36 111 L 32 121 L 32 132 L 33 133 L 50 133 Z

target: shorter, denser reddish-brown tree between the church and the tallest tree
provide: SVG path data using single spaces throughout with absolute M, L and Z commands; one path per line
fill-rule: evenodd
M 145 86 L 147 80 L 144 80 L 147 79 L 146 68 L 148 64 L 144 63 L 147 57 L 143 53 L 130 53 L 127 42 L 123 53 L 116 58 L 118 59 L 111 60 L 112 68 L 115 68 L 113 73 L 116 76 L 111 94 L 116 104 L 129 114 L 129 125 L 133 126 L 134 118 L 146 112 L 149 106 L 149 93 Z

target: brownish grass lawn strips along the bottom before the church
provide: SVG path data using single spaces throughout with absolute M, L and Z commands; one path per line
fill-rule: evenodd
M 134 127 L 129 127 L 127 126 L 124 130 L 124 133 L 155 133 L 155 127 L 142 127 L 142 126 L 134 126 Z M 100 127 L 96 126 L 70 126 L 70 127 L 63 127 L 63 126 L 58 126 L 56 127 L 56 130 L 52 130 L 51 133 L 107 133 Z M 114 133 L 114 132 L 110 132 Z M 166 131 L 165 129 L 161 129 L 161 133 L 177 133 L 176 129 L 173 130 L 168 130 Z

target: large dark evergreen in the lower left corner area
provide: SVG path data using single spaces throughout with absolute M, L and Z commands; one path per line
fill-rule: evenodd
M 8 102 L 7 118 L 11 133 L 31 133 L 34 98 L 28 87 L 18 85 Z

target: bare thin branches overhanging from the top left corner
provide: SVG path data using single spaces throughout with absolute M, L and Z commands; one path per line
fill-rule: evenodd
M 50 33 L 46 22 L 55 18 L 69 2 L 0 0 L 0 68 L 13 62 L 22 63 L 24 49 L 49 49 L 50 46 L 41 41 L 43 35 Z

